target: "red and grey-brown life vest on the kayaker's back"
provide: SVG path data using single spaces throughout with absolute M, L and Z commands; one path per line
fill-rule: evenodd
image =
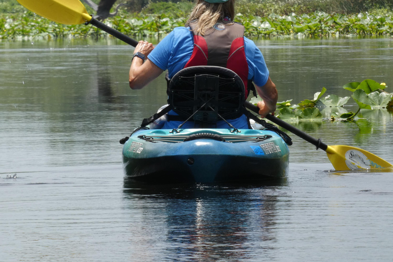
M 195 23 L 190 24 L 195 28 Z M 244 82 L 246 97 L 249 90 L 255 90 L 248 80 L 248 63 L 244 49 L 244 26 L 234 23 L 216 23 L 202 36 L 194 34 L 192 55 L 184 68 L 197 65 L 215 65 L 235 72 Z

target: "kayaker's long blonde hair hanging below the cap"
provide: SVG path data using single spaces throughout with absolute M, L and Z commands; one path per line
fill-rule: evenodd
M 235 0 L 229 0 L 222 4 L 211 4 L 204 0 L 198 0 L 197 5 L 192 9 L 190 17 L 186 22 L 188 27 L 191 21 L 198 20 L 194 28 L 195 33 L 205 35 L 206 31 L 213 27 L 217 21 L 224 21 L 228 16 L 233 20 L 235 16 Z

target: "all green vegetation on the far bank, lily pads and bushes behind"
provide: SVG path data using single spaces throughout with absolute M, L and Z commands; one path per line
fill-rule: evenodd
M 128 4 L 128 8 L 105 19 L 105 24 L 131 37 L 156 39 L 174 27 L 184 26 L 193 6 L 188 0 L 118 2 Z M 136 5 L 142 2 L 147 4 Z M 83 4 L 89 13 L 94 13 Z M 245 35 L 252 38 L 391 36 L 392 7 L 393 0 L 238 0 L 234 20 L 242 23 Z M 16 1 L 0 0 L 0 12 L 0 40 L 108 37 L 107 33 L 91 26 L 54 23 L 27 11 Z

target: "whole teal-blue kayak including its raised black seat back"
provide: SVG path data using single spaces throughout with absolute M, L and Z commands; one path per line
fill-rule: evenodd
M 151 183 L 285 177 L 289 149 L 283 139 L 292 142 L 285 133 L 244 108 L 244 86 L 237 74 L 225 68 L 191 67 L 179 71 L 168 85 L 169 106 L 145 119 L 129 138 L 121 140 L 126 176 Z M 182 119 L 178 120 L 181 124 L 174 129 L 153 129 L 170 110 Z M 263 129 L 236 129 L 230 124 L 243 115 Z M 221 120 L 228 128 L 216 127 Z M 182 127 L 187 121 L 192 121 L 192 129 Z M 151 129 L 147 129 L 150 123 Z

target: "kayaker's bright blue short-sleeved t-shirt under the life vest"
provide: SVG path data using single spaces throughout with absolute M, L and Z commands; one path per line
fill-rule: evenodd
M 255 43 L 244 37 L 246 59 L 248 63 L 248 79 L 258 86 L 263 86 L 268 81 L 269 70 L 266 67 L 265 59 Z M 174 28 L 147 56 L 150 61 L 162 70 L 168 70 L 169 78 L 182 70 L 191 57 L 194 47 L 193 34 L 189 28 Z M 173 115 L 173 111 L 168 114 Z M 249 128 L 247 117 L 242 116 L 229 120 L 235 128 Z M 164 129 L 176 128 L 180 121 L 169 121 L 164 124 Z M 192 126 L 191 126 L 192 125 Z M 192 123 L 183 125 L 183 128 L 192 128 Z M 224 121 L 217 122 L 217 128 L 228 128 Z

